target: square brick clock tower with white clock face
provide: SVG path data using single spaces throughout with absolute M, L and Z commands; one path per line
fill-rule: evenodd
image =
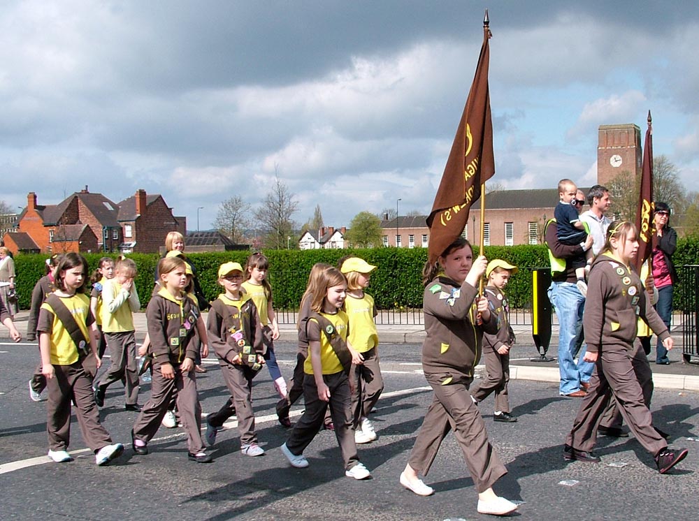
M 641 173 L 641 129 L 634 124 L 600 125 L 597 146 L 597 182 L 609 187 L 622 172 Z

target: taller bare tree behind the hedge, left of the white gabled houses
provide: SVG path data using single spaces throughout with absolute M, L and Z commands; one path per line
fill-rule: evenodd
M 294 221 L 291 216 L 298 210 L 298 202 L 286 184 L 275 172 L 275 182 L 261 206 L 255 212 L 261 226 L 266 228 L 264 244 L 268 248 L 282 249 L 290 246 Z M 296 243 L 294 237 L 294 243 Z

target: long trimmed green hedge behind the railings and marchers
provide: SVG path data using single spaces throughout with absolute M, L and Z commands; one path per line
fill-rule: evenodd
M 529 307 L 531 305 L 531 268 L 548 266 L 546 247 L 543 245 L 493 246 L 485 247 L 484 250 L 489 259 L 503 258 L 521 268 L 510 280 L 507 293 L 510 295 L 512 307 Z M 224 251 L 188 255 L 196 267 L 206 298 L 214 300 L 221 291 L 216 280 L 219 265 L 229 260 L 244 265 L 248 254 L 247 251 Z M 373 296 L 379 309 L 419 309 L 422 307 L 421 272 L 427 260 L 426 248 L 268 250 L 264 251 L 264 254 L 269 258 L 269 280 L 272 284 L 275 308 L 277 309 L 295 309 L 298 307 L 298 301 L 301 300 L 301 295 L 305 290 L 312 265 L 318 262 L 337 265 L 338 260 L 347 255 L 359 256 L 378 267 L 372 274 L 369 293 Z M 45 274 L 46 257 L 40 254 L 15 256 L 17 294 L 20 298 L 21 309 L 29 308 L 31 290 L 36 281 Z M 86 254 L 85 258 L 92 273 L 101 255 Z M 157 254 L 129 254 L 129 258 L 132 258 L 138 265 L 136 287 L 140 302 L 145 307 L 150 300 L 159 256 Z M 699 263 L 699 237 L 679 240 L 673 260 L 678 267 Z M 675 309 L 681 309 L 678 300 L 679 293 L 679 291 L 675 291 Z

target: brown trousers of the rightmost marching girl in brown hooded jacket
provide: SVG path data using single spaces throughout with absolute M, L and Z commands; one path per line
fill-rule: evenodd
M 577 450 L 592 450 L 597 437 L 600 418 L 612 397 L 619 404 L 619 411 L 638 442 L 651 455 L 657 455 L 668 446 L 667 441 L 652 426 L 641 386 L 634 372 L 632 355 L 622 346 L 605 346 L 600 353 L 590 388 L 582 399 L 580 410 L 565 443 Z

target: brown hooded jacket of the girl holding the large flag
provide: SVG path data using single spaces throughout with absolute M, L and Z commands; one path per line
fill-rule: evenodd
M 497 319 L 476 325 L 477 289 L 459 286 L 441 276 L 427 284 L 424 292 L 425 341 L 422 344 L 422 368 L 431 383 L 470 383 L 480 360 L 483 332 L 495 334 Z

